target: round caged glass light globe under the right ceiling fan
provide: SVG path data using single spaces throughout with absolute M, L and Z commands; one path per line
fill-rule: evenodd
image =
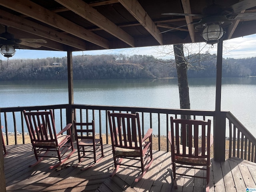
M 207 44 L 215 44 L 218 43 L 223 34 L 223 28 L 219 24 L 210 24 L 204 28 L 202 37 L 206 40 Z

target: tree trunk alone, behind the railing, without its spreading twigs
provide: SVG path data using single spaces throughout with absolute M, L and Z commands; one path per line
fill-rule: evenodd
M 185 60 L 183 44 L 173 45 L 176 70 L 178 75 L 178 86 L 180 94 L 180 108 L 190 109 L 188 76 L 187 76 L 187 62 Z M 186 116 L 182 116 L 186 119 Z

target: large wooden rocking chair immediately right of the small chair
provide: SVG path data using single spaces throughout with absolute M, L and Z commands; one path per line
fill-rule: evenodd
M 135 182 L 138 182 L 153 162 L 152 157 L 152 129 L 148 129 L 144 138 L 140 130 L 139 114 L 110 113 L 108 111 L 112 152 L 114 156 L 114 176 L 120 165 L 141 168 Z M 137 160 L 140 166 L 122 163 L 123 159 Z

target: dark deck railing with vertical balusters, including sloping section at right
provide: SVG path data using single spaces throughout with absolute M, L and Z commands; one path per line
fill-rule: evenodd
M 54 119 L 56 128 L 64 128 L 67 124 L 68 104 L 51 105 L 51 106 L 28 106 L 28 107 L 14 107 L 1 108 L 0 118 L 1 124 L 4 126 L 3 132 L 13 132 L 15 143 L 17 143 L 17 130 L 21 130 L 22 144 L 25 143 L 24 135 L 27 132 L 27 127 L 22 114 L 26 111 L 40 111 L 52 109 L 54 112 Z M 109 125 L 107 118 L 107 111 L 111 112 L 138 112 L 140 114 L 140 122 L 142 127 L 142 134 L 148 128 L 153 128 L 154 136 L 158 136 L 158 150 L 169 150 L 169 143 L 166 138 L 160 136 L 167 136 L 170 129 L 170 116 L 174 118 L 181 118 L 184 116 L 191 116 L 191 119 L 197 120 L 212 120 L 212 133 L 214 132 L 215 112 L 212 110 L 184 110 L 184 109 L 168 109 L 168 108 L 145 108 L 145 107 L 128 107 L 128 106 L 97 106 L 97 105 L 72 105 L 74 109 L 74 119 L 77 122 L 90 122 L 95 120 L 96 132 L 108 140 Z M 226 116 L 226 141 L 225 146 L 228 152 L 226 158 L 236 156 L 242 159 L 255 162 L 256 158 L 256 139 L 252 134 L 232 115 L 230 112 L 222 113 Z M 10 131 L 11 130 L 11 131 Z M 60 130 L 57 130 L 60 131 Z M 161 148 L 161 140 L 166 142 L 166 149 Z M 5 135 L 6 144 L 9 144 L 9 136 Z

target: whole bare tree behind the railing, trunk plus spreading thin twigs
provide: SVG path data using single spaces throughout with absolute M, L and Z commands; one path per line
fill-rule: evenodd
M 186 46 L 176 44 L 173 45 L 173 50 L 170 46 L 155 48 L 161 58 L 157 59 L 157 63 L 170 67 L 176 66 L 181 109 L 190 109 L 187 70 L 202 70 L 204 69 L 201 64 L 202 60 L 212 59 L 210 52 L 206 50 L 207 45 L 200 46 L 200 44 L 186 44 Z M 192 50 L 197 50 L 197 52 L 192 53 Z M 204 54 L 200 54 L 202 50 L 206 50 Z M 190 119 L 190 116 L 181 116 L 181 118 Z

